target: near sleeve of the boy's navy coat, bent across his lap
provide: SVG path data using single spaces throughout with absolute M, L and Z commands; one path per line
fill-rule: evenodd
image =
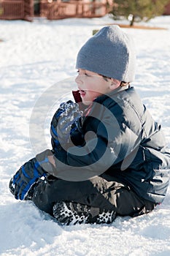
M 98 121 L 91 121 L 85 144 L 55 154 L 55 172 L 51 174 L 68 181 L 87 180 L 101 175 L 133 151 L 140 136 L 124 124 L 121 108 L 116 113 L 117 116 L 107 109 L 98 111 Z

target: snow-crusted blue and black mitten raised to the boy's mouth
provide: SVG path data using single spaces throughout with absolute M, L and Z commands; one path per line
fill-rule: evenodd
M 77 121 L 81 117 L 77 103 L 69 100 L 61 103 L 51 121 L 50 133 L 52 136 L 53 150 L 61 150 L 62 145 L 70 141 L 70 135 L 77 129 Z

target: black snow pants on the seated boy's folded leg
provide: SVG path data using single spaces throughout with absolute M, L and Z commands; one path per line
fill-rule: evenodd
M 56 202 L 76 202 L 106 210 L 116 211 L 119 216 L 139 216 L 146 214 L 155 204 L 144 200 L 130 187 L 103 174 L 87 181 L 63 181 L 48 176 L 39 181 L 32 200 L 42 211 L 53 215 Z

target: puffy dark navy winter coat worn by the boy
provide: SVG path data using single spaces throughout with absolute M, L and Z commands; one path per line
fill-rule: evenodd
M 161 125 L 133 87 L 96 98 L 80 123 L 72 135 L 74 144 L 55 154 L 56 168 L 50 174 L 82 181 L 105 172 L 139 197 L 163 201 L 169 186 L 170 151 Z

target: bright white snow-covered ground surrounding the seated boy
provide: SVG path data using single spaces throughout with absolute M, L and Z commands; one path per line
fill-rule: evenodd
M 93 29 L 113 23 L 108 17 L 48 21 L 0 21 L 0 255 L 170 255 L 170 189 L 152 213 L 111 225 L 61 227 L 30 202 L 15 200 L 9 179 L 35 151 L 50 145 L 49 123 L 55 105 L 69 97 L 76 75 L 77 51 Z M 165 30 L 124 29 L 134 37 L 137 70 L 134 86 L 170 146 L 170 16 L 150 20 Z M 49 91 L 55 86 L 53 100 Z M 48 97 L 47 97 L 48 96 Z M 44 139 L 34 143 L 31 122 L 37 106 Z M 39 104 L 38 104 L 38 103 Z M 45 104 L 46 104 L 45 103 Z M 37 118 L 40 118 L 37 117 Z M 38 120 L 39 121 L 39 120 Z M 43 121 L 43 120 L 42 120 Z M 31 127 L 31 128 L 30 128 Z M 39 137 L 39 131 L 36 131 Z M 43 139 L 43 140 L 44 140 Z

